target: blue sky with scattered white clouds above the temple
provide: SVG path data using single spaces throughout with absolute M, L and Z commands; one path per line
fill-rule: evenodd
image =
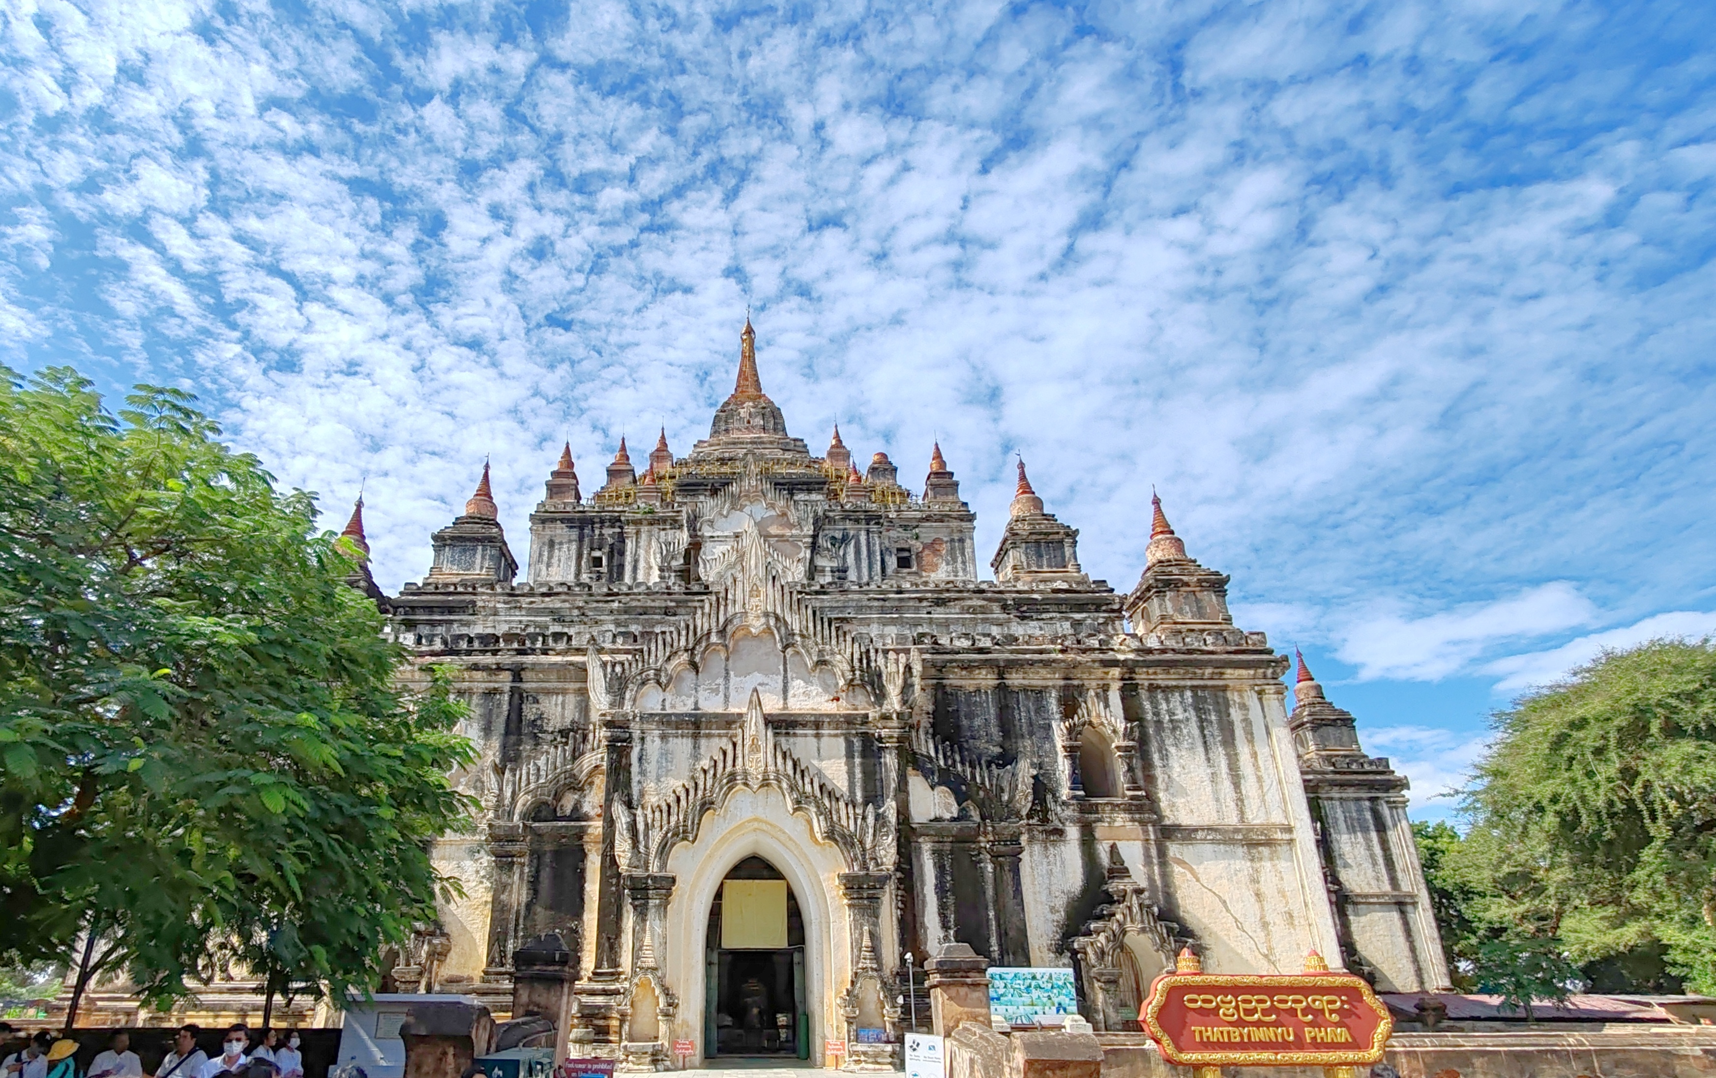
M 1601 646 L 1716 629 L 1716 5 L 0 9 L 0 362 L 196 389 L 376 571 L 494 459 L 765 389 L 992 547 L 1023 452 L 1129 588 L 1457 783 Z

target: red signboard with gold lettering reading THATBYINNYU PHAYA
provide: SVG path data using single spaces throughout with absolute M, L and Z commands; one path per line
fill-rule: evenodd
M 1163 973 L 1138 1020 L 1179 1066 L 1380 1063 L 1393 1020 L 1352 973 Z

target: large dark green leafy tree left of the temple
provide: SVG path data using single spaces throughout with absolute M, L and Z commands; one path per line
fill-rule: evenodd
M 227 956 L 362 991 L 451 886 L 462 711 L 192 401 L 0 367 L 0 922 L 156 1003 Z

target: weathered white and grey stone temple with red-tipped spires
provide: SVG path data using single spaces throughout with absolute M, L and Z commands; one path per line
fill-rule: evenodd
M 921 487 L 839 430 L 812 454 L 748 319 L 709 437 L 662 432 L 642 475 L 621 442 L 599 480 L 559 456 L 520 576 L 486 466 L 424 581 L 378 596 L 419 668 L 456 670 L 482 802 L 436 850 L 463 896 L 386 987 L 544 1015 L 626 1069 L 831 1039 L 879 1069 L 860 1030 L 897 1039 L 906 955 L 952 941 L 1074 968 L 1098 1030 L 1138 1028 L 1184 946 L 1448 984 L 1405 780 L 1302 660 L 1287 710 L 1289 660 L 1160 500 L 1117 593 L 1019 461 L 980 579 L 940 446 Z

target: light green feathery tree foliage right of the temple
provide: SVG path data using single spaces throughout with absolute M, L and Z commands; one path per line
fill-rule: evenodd
M 1479 979 L 1505 958 L 1484 946 L 1551 941 L 1611 989 L 1716 991 L 1711 641 L 1606 653 L 1498 713 L 1462 812 L 1464 838 L 1419 828 L 1419 848 Z

